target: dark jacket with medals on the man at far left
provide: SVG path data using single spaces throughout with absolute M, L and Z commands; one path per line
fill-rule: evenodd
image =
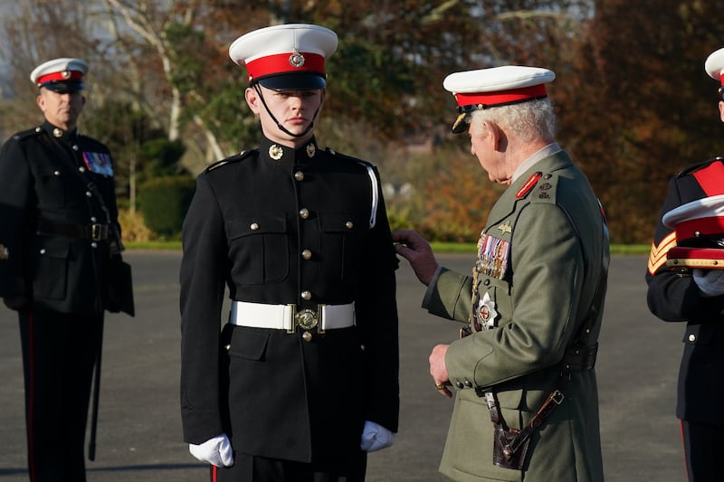
M 108 232 L 120 230 L 112 173 L 108 147 L 47 121 L 5 142 L 0 297 L 22 295 L 63 313 L 103 311 Z

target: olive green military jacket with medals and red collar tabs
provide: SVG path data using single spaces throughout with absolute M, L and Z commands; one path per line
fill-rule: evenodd
M 594 370 L 571 373 L 564 401 L 531 437 L 523 470 L 493 465 L 493 424 L 481 392 L 492 388 L 504 421 L 521 429 L 560 376 L 574 338 L 582 332 L 579 341 L 596 344 L 603 309 L 589 316 L 589 307 L 599 279 L 605 283 L 607 238 L 586 176 L 558 150 L 493 206 L 477 276 L 443 268 L 433 279 L 423 304 L 430 313 L 469 322 L 474 303 L 475 322 L 490 326 L 454 341 L 445 356 L 457 390 L 443 474 L 461 481 L 603 480 Z M 593 318 L 589 333 L 586 317 Z

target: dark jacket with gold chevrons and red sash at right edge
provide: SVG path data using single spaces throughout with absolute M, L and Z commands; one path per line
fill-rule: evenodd
M 691 278 L 666 266 L 666 253 L 676 246 L 675 232 L 662 223 L 662 215 L 684 203 L 712 195 L 707 184 L 724 192 L 724 160 L 720 157 L 693 165 L 673 177 L 663 203 L 646 271 L 648 304 L 663 321 L 686 322 L 679 371 L 676 416 L 681 420 L 724 426 L 724 296 L 705 298 Z

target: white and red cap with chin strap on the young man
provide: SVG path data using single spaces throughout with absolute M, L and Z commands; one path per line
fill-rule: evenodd
M 256 82 L 272 90 L 325 87 L 324 60 L 337 50 L 337 33 L 310 24 L 281 24 L 245 33 L 229 47 L 229 56 Z

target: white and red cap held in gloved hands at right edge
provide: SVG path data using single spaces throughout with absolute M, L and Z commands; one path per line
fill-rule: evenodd
M 666 253 L 672 268 L 724 269 L 724 194 L 681 204 L 662 217 L 676 233 L 676 247 Z

